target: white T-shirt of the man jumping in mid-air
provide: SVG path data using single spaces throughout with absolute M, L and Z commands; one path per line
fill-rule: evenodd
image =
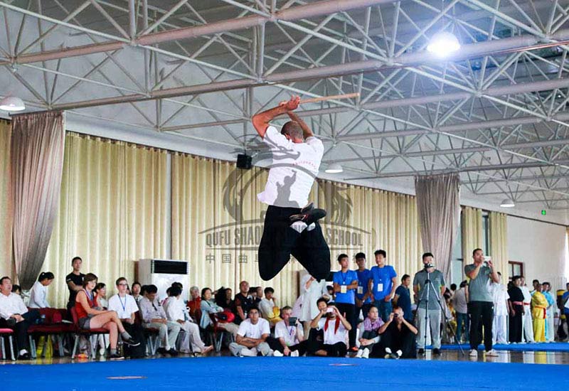
M 307 205 L 324 154 L 322 141 L 312 136 L 304 143 L 293 143 L 272 126 L 267 127 L 263 141 L 271 149 L 272 164 L 265 191 L 257 194 L 257 198 L 283 208 Z

